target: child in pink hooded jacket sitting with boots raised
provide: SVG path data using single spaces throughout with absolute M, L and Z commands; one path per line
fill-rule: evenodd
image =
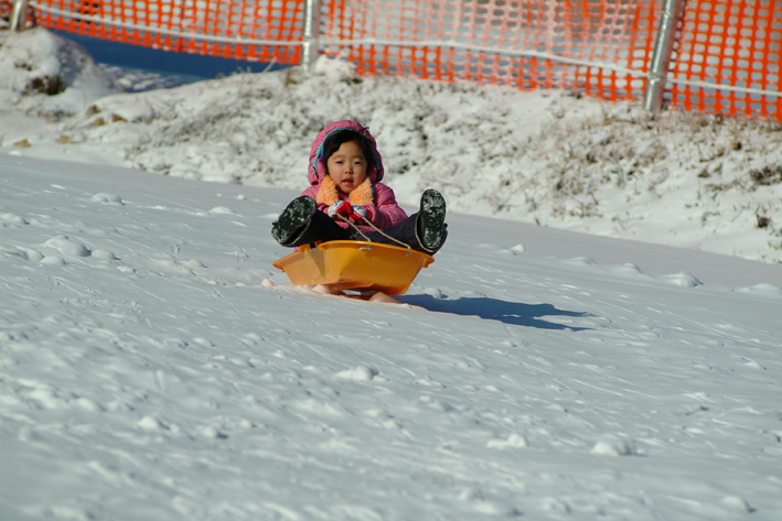
M 282 246 L 315 241 L 367 240 L 433 254 L 446 242 L 446 200 L 421 195 L 420 210 L 408 217 L 394 191 L 381 183 L 383 161 L 369 131 L 355 121 L 336 121 L 312 143 L 310 186 L 274 222 Z

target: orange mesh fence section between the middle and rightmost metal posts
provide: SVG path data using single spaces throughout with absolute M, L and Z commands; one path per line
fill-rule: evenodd
M 347 55 L 360 74 L 639 99 L 661 1 L 332 0 L 324 43 L 339 54 L 336 42 L 355 41 Z

